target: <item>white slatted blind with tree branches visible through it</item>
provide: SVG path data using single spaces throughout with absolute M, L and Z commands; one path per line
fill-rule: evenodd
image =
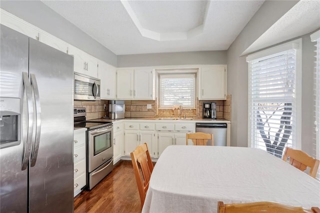
M 281 157 L 296 142 L 296 49 L 270 52 L 247 57 L 248 139 L 251 147 Z

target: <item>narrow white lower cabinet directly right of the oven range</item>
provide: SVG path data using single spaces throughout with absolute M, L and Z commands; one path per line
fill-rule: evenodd
M 113 124 L 113 164 L 118 162 L 123 154 L 124 124 Z

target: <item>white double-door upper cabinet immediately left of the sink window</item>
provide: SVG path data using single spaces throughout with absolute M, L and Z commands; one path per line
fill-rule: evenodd
M 116 91 L 117 99 L 153 99 L 152 69 L 118 69 Z

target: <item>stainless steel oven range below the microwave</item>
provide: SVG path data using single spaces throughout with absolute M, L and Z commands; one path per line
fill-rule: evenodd
M 85 120 L 85 108 L 74 107 L 74 127 L 86 130 L 86 188 L 92 189 L 113 169 L 112 122 Z

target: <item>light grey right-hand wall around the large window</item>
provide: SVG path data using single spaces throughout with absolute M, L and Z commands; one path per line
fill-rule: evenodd
M 231 145 L 247 146 L 247 63 L 239 56 L 261 33 L 287 12 L 297 1 L 265 1 L 227 50 L 227 90 L 232 95 Z M 271 15 L 272 14 L 272 15 Z M 267 18 L 266 18 L 267 17 Z M 309 32 L 302 37 L 302 150 L 312 154 L 313 142 L 313 66 L 314 43 Z M 296 38 L 292 38 L 296 39 Z M 284 41 L 287 42 L 287 41 Z M 282 42 L 283 43 L 283 42 Z

